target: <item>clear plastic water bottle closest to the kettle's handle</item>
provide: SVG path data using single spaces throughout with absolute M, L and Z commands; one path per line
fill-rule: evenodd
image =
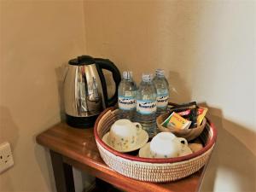
M 123 73 L 123 79 L 119 84 L 118 94 L 120 118 L 133 121 L 136 113 L 137 86 L 132 79 L 131 72 Z

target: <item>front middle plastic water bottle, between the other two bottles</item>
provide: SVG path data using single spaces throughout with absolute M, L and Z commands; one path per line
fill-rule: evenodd
M 143 74 L 137 90 L 137 122 L 148 132 L 149 138 L 156 134 L 156 90 L 151 74 Z

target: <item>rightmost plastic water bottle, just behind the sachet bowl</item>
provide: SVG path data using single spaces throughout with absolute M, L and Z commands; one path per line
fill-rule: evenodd
M 162 113 L 166 113 L 169 100 L 169 84 L 163 69 L 155 70 L 153 82 L 157 93 L 156 115 L 159 116 Z

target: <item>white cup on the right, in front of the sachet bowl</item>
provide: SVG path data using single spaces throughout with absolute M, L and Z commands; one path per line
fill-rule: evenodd
M 160 132 L 150 143 L 150 155 L 152 158 L 177 157 L 183 146 L 188 146 L 185 138 L 176 137 L 171 132 Z

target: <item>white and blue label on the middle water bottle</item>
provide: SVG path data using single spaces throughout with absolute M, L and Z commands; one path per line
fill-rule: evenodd
M 137 100 L 137 112 L 141 114 L 152 114 L 156 112 L 155 101 Z

